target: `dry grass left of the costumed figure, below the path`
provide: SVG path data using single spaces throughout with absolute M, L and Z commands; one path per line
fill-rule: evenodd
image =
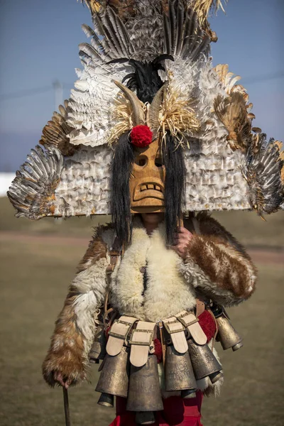
M 1 426 L 65 424 L 62 390 L 45 385 L 40 366 L 83 252 L 82 246 L 45 246 L 44 239 L 1 246 Z M 108 425 L 114 417 L 114 410 L 97 406 L 94 383 L 70 391 L 74 426 Z

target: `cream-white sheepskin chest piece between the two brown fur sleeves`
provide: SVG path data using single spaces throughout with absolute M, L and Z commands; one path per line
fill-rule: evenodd
M 139 219 L 133 224 L 132 243 L 111 277 L 111 305 L 122 315 L 156 322 L 195 307 L 195 289 L 181 275 L 182 258 L 165 246 L 165 225 L 151 236 Z M 147 266 L 147 288 L 143 267 Z

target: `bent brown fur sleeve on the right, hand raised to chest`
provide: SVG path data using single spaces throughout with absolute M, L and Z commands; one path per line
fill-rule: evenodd
M 194 234 L 182 266 L 187 280 L 224 306 L 251 296 L 256 268 L 244 248 L 212 217 L 197 215 L 200 234 Z

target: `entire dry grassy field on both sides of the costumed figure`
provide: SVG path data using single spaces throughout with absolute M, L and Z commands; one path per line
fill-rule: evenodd
M 82 241 L 66 244 L 64 239 L 55 245 L 45 235 L 87 237 L 95 222 L 70 219 L 55 224 L 51 219 L 13 219 L 6 199 L 0 199 L 0 208 L 0 231 L 42 236 L 17 241 L 6 234 L 1 241 L 0 425 L 63 426 L 62 391 L 45 385 L 40 365 L 67 286 L 86 247 Z M 252 215 L 231 214 L 231 219 L 226 214 L 218 216 L 244 243 L 283 244 L 283 212 L 269 222 L 252 219 Z M 204 400 L 204 426 L 283 425 L 283 265 L 259 264 L 258 268 L 258 291 L 230 311 L 234 327 L 244 337 L 244 347 L 233 353 L 222 351 L 217 344 L 225 385 L 221 397 Z M 70 390 L 72 426 L 107 426 L 113 420 L 114 410 L 97 405 L 96 380 L 94 366 L 90 383 Z

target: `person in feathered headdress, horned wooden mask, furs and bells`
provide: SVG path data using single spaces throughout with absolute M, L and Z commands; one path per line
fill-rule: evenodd
M 214 341 L 242 346 L 225 308 L 256 284 L 209 212 L 278 210 L 280 143 L 252 128 L 239 77 L 212 67 L 219 0 L 86 3 L 75 90 L 9 190 L 18 217 L 112 215 L 77 268 L 43 376 L 68 388 L 102 361 L 111 425 L 201 425 L 202 395 L 223 382 Z

